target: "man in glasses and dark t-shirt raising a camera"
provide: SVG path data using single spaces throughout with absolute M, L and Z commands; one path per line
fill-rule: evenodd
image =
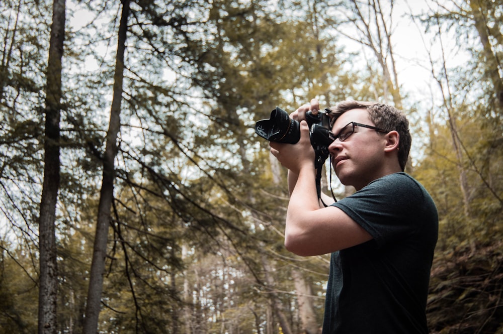
M 356 193 L 324 207 L 316 191 L 308 110 L 319 110 L 318 101 L 291 115 L 301 122 L 297 144 L 270 146 L 289 169 L 285 247 L 300 256 L 331 253 L 323 334 L 428 333 L 438 214 L 428 192 L 403 172 L 408 121 L 380 103 L 345 101 L 330 109 L 331 164 Z

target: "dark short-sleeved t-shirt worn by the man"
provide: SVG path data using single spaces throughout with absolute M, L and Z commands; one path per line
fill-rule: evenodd
M 428 333 L 438 238 L 431 196 L 411 176 L 395 173 L 332 205 L 373 240 L 331 254 L 323 334 Z

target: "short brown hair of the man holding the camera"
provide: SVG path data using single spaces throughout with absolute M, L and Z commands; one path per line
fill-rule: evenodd
M 379 102 L 360 102 L 360 101 L 343 101 L 334 107 L 328 108 L 330 110 L 330 117 L 332 118 L 331 124 L 344 113 L 351 109 L 366 109 L 369 113 L 370 120 L 374 122 L 377 128 L 384 131 L 395 130 L 400 135 L 398 143 L 398 163 L 403 170 L 407 163 L 410 145 L 412 138 L 408 128 L 408 120 L 400 110 L 397 108 Z

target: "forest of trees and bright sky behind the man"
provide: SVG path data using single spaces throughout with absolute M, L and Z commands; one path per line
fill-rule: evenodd
M 317 97 L 404 110 L 431 332 L 503 333 L 502 5 L 3 0 L 0 332 L 318 333 L 329 259 L 284 250 L 253 130 Z

